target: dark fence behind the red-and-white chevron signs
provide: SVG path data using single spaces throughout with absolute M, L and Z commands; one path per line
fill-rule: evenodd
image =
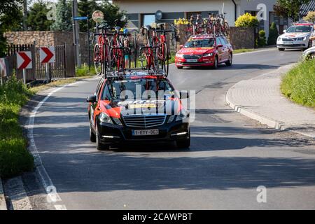
M 37 47 L 35 43 L 27 45 L 8 45 L 7 59 L 9 66 L 12 68 L 10 71 L 15 69 L 17 78 L 21 79 L 23 75 L 22 70 L 17 69 L 16 54 L 20 51 L 31 51 L 32 69 L 27 69 L 26 71 L 27 82 L 32 80 L 45 80 L 46 69 L 45 64 L 42 64 L 39 60 L 39 49 L 40 47 Z M 48 64 L 48 73 L 52 79 L 76 76 L 73 45 L 55 45 L 55 62 Z

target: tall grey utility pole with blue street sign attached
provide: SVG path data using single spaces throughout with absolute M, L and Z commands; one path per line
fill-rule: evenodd
M 72 0 L 72 28 L 73 28 L 73 44 L 76 52 L 76 66 L 81 66 L 80 59 L 80 43 L 79 43 L 79 26 L 78 21 L 75 20 L 78 16 L 78 1 Z

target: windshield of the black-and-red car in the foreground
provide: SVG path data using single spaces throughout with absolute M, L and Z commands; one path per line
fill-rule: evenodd
M 144 96 L 146 91 L 154 92 L 155 97 L 158 98 L 160 91 L 163 94 L 174 94 L 173 88 L 166 79 L 161 78 L 143 78 L 130 80 L 116 80 L 106 85 L 102 94 L 102 99 L 119 100 L 125 99 L 126 94 L 130 97 L 132 93 L 134 99 L 139 99 Z M 128 91 L 128 92 L 127 92 Z M 139 92 L 137 92 L 139 91 Z M 141 96 L 139 97 L 139 95 Z M 152 93 L 151 93 L 152 94 Z

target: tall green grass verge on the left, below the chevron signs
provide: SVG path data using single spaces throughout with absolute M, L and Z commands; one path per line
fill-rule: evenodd
M 27 139 L 18 123 L 19 111 L 33 92 L 11 78 L 0 86 L 0 176 L 31 171 L 34 158 L 27 151 Z

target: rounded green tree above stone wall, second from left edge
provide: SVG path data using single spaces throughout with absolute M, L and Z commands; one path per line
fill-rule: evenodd
M 52 21 L 47 19 L 49 12 L 43 1 L 38 1 L 29 8 L 29 15 L 27 17 L 27 27 L 31 30 L 45 31 L 49 30 Z

